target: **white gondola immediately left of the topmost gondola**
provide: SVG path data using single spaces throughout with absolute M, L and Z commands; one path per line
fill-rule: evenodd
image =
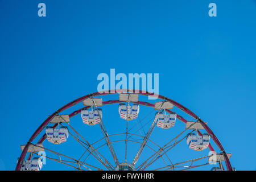
M 82 116 L 82 122 L 85 123 L 86 125 L 97 125 L 98 123 L 101 122 L 102 110 L 95 109 L 93 111 L 93 110 L 83 109 L 81 111 L 81 116 Z

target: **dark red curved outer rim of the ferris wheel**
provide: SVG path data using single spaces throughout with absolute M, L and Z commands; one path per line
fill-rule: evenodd
M 42 132 L 42 130 L 48 125 L 48 123 L 51 121 L 51 119 L 53 117 L 55 117 L 55 115 L 61 113 L 64 110 L 67 110 L 69 107 L 72 107 L 74 105 L 79 104 L 80 102 L 82 102 L 83 100 L 85 100 L 86 98 L 90 98 L 90 97 L 94 97 L 94 96 L 105 96 L 105 95 L 110 95 L 110 94 L 119 94 L 119 93 L 135 93 L 135 94 L 140 94 L 142 96 L 150 96 L 150 97 L 156 97 L 162 100 L 166 100 L 171 102 L 171 104 L 173 104 L 174 106 L 176 106 L 178 109 L 184 111 L 185 113 L 187 113 L 188 115 L 191 115 L 191 117 L 197 119 L 197 121 L 199 121 L 201 123 L 201 125 L 204 127 L 205 131 L 207 131 L 207 133 L 210 135 L 210 137 L 213 139 L 214 143 L 216 143 L 217 147 L 222 151 L 222 154 L 224 155 L 224 160 L 226 163 L 226 168 L 228 169 L 228 171 L 232 171 L 232 166 L 230 164 L 228 155 L 226 154 L 224 147 L 222 146 L 220 140 L 216 137 L 216 135 L 213 133 L 212 130 L 210 130 L 210 128 L 208 127 L 208 125 L 206 125 L 206 123 L 201 120 L 200 117 L 198 117 L 195 113 L 193 113 L 191 110 L 187 109 L 187 107 L 179 104 L 179 102 L 176 102 L 174 100 L 171 100 L 168 97 L 162 96 L 160 94 L 155 94 L 155 93 L 149 93 L 147 91 L 144 90 L 130 90 L 130 89 L 115 89 L 115 90 L 103 90 L 102 92 L 94 92 L 91 94 L 87 94 L 85 96 L 82 96 L 80 98 L 77 98 L 76 100 L 69 102 L 68 104 L 64 105 L 63 107 L 60 107 L 59 110 L 56 110 L 54 113 L 52 113 L 51 115 L 49 115 L 49 117 L 38 127 L 38 129 L 34 132 L 34 134 L 32 134 L 31 138 L 28 140 L 27 144 L 24 146 L 23 150 L 22 150 L 22 154 L 20 154 L 20 157 L 18 159 L 18 163 L 16 164 L 16 171 L 19 171 L 20 167 L 21 167 L 21 162 L 24 160 L 26 154 L 27 154 L 27 149 L 29 144 Z M 104 105 L 107 104 L 118 104 L 121 103 L 121 101 L 119 100 L 110 100 L 107 101 L 109 103 L 105 103 Z M 144 102 L 143 101 L 138 101 L 140 103 L 138 104 L 142 104 L 144 106 L 150 106 L 148 104 L 150 104 L 149 102 Z M 90 107 L 90 106 L 86 106 L 86 107 Z M 86 107 L 83 107 L 82 109 L 85 109 Z M 81 109 L 79 109 L 81 112 Z M 79 114 L 79 110 L 74 111 L 73 113 L 71 113 L 70 115 L 72 115 L 72 117 L 76 114 Z M 171 110 L 167 110 L 168 113 L 172 112 Z M 187 122 L 183 117 L 181 117 L 183 119 L 183 122 Z M 179 118 L 178 118 L 179 119 Z M 42 137 L 43 138 L 43 137 Z M 38 143 L 43 143 L 44 140 L 40 139 Z M 42 140 L 42 141 L 41 141 Z M 209 149 L 211 151 L 214 151 L 213 148 L 211 148 L 211 146 L 209 145 Z

